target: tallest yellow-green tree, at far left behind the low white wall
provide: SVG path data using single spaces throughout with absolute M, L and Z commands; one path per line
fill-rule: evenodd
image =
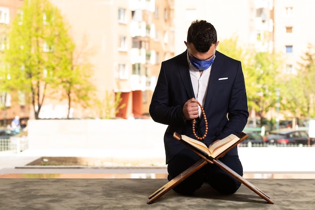
M 55 54 L 64 37 L 67 36 L 62 17 L 48 0 L 24 1 L 9 33 L 10 48 L 6 50 L 5 61 L 11 83 L 30 96 L 36 119 L 47 86 L 55 82 L 54 67 L 59 63 Z

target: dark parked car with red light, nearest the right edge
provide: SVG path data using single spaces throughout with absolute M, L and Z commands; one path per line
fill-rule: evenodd
M 307 145 L 308 133 L 305 130 L 273 130 L 266 136 L 270 144 L 303 144 Z M 311 143 L 313 145 L 314 143 Z

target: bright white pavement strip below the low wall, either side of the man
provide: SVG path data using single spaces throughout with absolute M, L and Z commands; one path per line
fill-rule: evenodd
M 315 148 L 239 148 L 239 156 L 243 164 L 244 173 L 271 174 L 271 173 L 299 173 L 315 174 Z M 122 150 L 26 150 L 19 154 L 0 152 L 1 169 L 22 167 L 40 157 L 100 157 L 131 160 L 156 160 L 157 167 L 166 168 L 165 151 L 161 149 L 139 149 L 132 151 Z M 151 163 L 147 168 L 152 166 Z

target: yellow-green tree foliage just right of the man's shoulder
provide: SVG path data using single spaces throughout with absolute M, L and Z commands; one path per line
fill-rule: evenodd
M 218 50 L 242 61 L 249 110 L 254 109 L 261 118 L 276 104 L 276 88 L 279 88 L 280 54 L 257 52 L 251 47 L 239 46 L 238 37 L 220 42 Z

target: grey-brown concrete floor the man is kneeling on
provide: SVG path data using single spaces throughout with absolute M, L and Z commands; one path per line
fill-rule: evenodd
M 242 185 L 233 195 L 220 195 L 207 184 L 194 195 L 173 190 L 152 204 L 148 196 L 166 179 L 0 179 L 1 210 L 73 209 L 314 209 L 314 179 L 250 179 L 274 202 L 266 203 Z

